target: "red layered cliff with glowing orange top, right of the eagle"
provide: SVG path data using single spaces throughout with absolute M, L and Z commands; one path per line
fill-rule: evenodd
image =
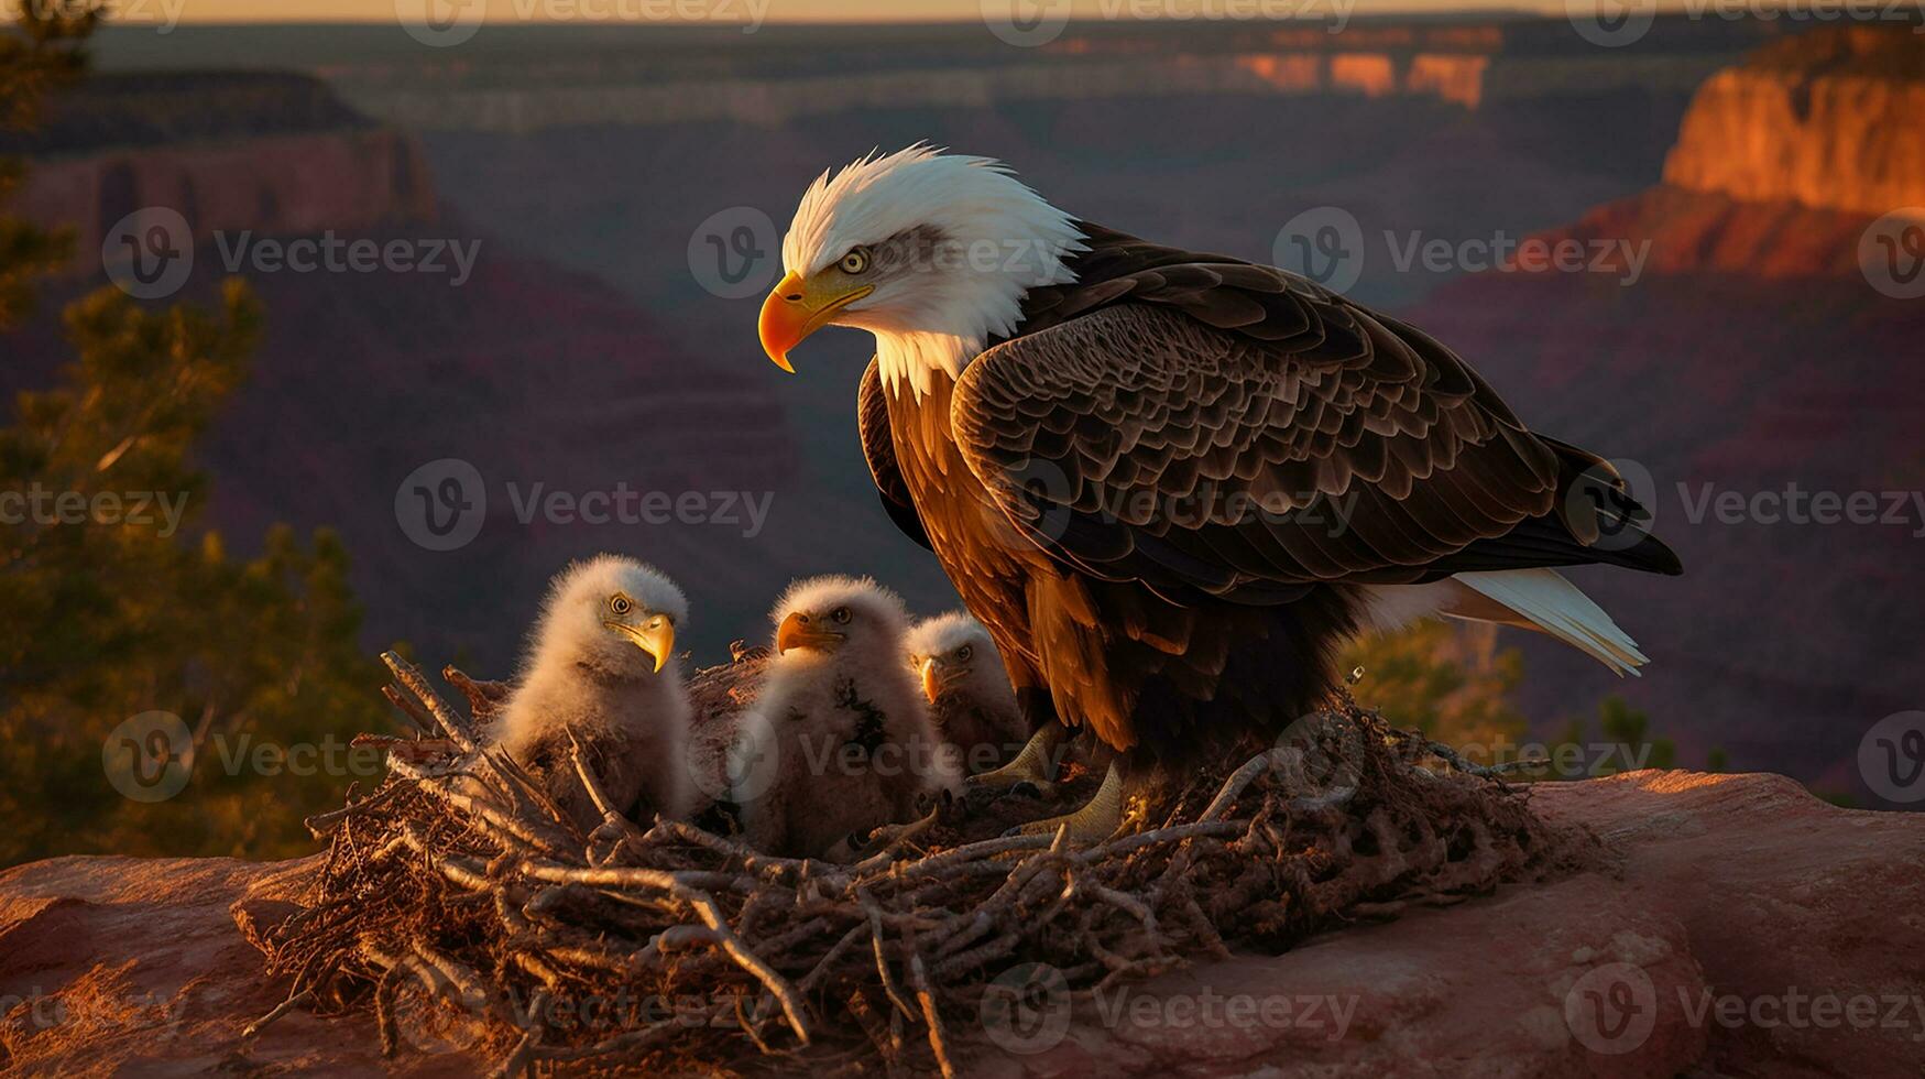
M 1919 71 L 1906 27 L 1767 46 L 1706 83 L 1663 185 L 1542 237 L 1638 250 L 1640 279 L 1476 274 L 1409 312 L 1532 428 L 1652 478 L 1640 495 L 1684 576 L 1584 586 L 1656 659 L 1627 696 L 1690 717 L 1684 759 L 1715 744 L 1861 798 L 1860 738 L 1925 699 L 1925 617 L 1898 599 L 1925 590 L 1925 301 L 1894 287 L 1904 266 L 1861 262 L 1875 222 L 1925 204 Z M 1881 509 L 1786 516 L 1819 491 Z M 1569 709 L 1588 661 L 1525 647 L 1527 711 Z M 1852 719 L 1810 721 L 1825 711 Z

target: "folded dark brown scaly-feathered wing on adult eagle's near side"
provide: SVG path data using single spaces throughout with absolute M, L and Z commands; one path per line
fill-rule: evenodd
M 1061 561 L 1288 601 L 1315 582 L 1611 561 L 1677 572 L 1600 461 L 1532 435 L 1450 349 L 1301 277 L 1168 262 L 1065 289 L 951 410 L 970 468 Z

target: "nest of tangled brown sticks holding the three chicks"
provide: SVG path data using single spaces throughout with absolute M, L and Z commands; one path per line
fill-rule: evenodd
M 308 902 L 266 934 L 270 973 L 293 987 L 256 1029 L 296 1006 L 366 1010 L 385 1052 L 466 1048 L 500 1075 L 953 1073 L 986 1052 L 993 998 L 1038 971 L 1084 998 L 1596 854 L 1496 769 L 1348 694 L 1132 800 L 1134 829 L 1091 848 L 1003 838 L 1007 821 L 968 803 L 886 830 L 847 865 L 612 811 L 583 836 L 477 748 L 502 686 L 449 669 L 464 717 L 383 659 L 389 699 L 450 751 L 397 750 L 377 790 L 310 819 L 331 846 Z M 1070 786 L 1065 803 L 1082 796 Z M 1032 817 L 1063 807 L 1030 802 Z

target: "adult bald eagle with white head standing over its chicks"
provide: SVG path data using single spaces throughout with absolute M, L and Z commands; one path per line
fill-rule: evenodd
M 782 260 L 768 356 L 874 333 L 857 426 L 884 507 L 1036 726 L 1120 753 L 1078 840 L 1115 827 L 1116 771 L 1278 730 L 1365 630 L 1451 615 L 1646 661 L 1555 566 L 1681 572 L 1650 514 L 1415 326 L 924 145 L 824 171 Z

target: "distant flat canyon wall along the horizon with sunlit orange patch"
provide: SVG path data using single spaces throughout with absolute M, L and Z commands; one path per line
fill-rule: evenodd
M 1761 25 L 1761 23 L 1758 23 Z M 905 39 L 880 48 L 808 39 L 749 67 L 693 44 L 647 66 L 606 56 L 493 56 L 472 67 L 343 64 L 333 85 L 368 116 L 422 131 L 531 133 L 570 125 L 755 123 L 901 108 L 997 108 L 1211 96 L 1428 98 L 1463 108 L 1544 94 L 1686 94 L 1756 40 L 1679 40 L 1598 56 L 1563 19 L 1469 25 L 1247 27 L 1072 25 L 1041 48 Z M 782 31 L 768 31 L 780 37 Z M 945 35 L 949 29 L 901 31 Z M 860 46 L 862 42 L 857 42 Z

